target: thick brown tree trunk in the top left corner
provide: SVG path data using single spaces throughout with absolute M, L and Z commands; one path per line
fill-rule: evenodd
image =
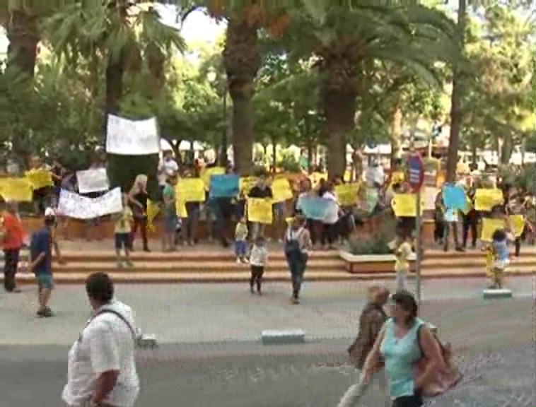
M 11 13 L 7 25 L 8 62 L 7 69 L 16 69 L 28 79 L 33 79 L 37 44 L 39 43 L 39 28 L 37 16 L 22 10 Z

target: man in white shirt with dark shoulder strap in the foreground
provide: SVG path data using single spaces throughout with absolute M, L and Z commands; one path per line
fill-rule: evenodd
M 69 352 L 62 399 L 71 407 L 132 407 L 139 394 L 132 309 L 106 273 L 86 280 L 93 315 Z

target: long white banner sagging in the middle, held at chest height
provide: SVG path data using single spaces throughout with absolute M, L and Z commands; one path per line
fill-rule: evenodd
M 59 194 L 58 214 L 75 219 L 95 219 L 121 212 L 123 199 L 120 188 L 112 189 L 99 198 L 91 199 L 62 189 Z

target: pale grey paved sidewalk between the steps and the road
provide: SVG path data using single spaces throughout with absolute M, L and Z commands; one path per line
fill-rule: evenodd
M 520 328 L 515 340 L 530 338 L 533 281 L 513 278 L 514 300 L 482 300 L 481 279 L 424 281 L 421 315 L 441 326 L 444 336 L 470 345 L 479 335 L 503 338 Z M 393 286 L 389 281 L 388 285 Z M 303 329 L 308 338 L 352 338 L 356 334 L 366 283 L 307 283 L 303 301 L 289 305 L 287 284 L 267 284 L 264 296 L 247 285 L 118 285 L 117 297 L 131 305 L 137 325 L 161 343 L 258 341 L 265 329 Z M 57 317 L 34 317 L 37 290 L 0 293 L 0 345 L 71 345 L 90 309 L 82 286 L 59 286 L 51 307 Z M 500 309 L 497 305 L 501 305 Z M 496 319 L 499 321 L 494 322 Z M 517 325 L 516 325 L 517 324 Z

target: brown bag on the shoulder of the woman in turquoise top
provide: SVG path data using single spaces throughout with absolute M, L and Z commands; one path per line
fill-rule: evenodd
M 424 351 L 421 346 L 420 332 L 423 326 L 424 324 L 419 326 L 419 329 L 417 331 L 417 343 L 419 344 L 419 349 L 421 350 L 422 357 L 418 362 L 416 362 L 416 377 L 418 377 L 421 372 L 424 372 L 424 370 L 426 370 L 426 365 L 428 363 L 428 360 L 426 359 L 426 356 L 424 355 Z M 462 379 L 462 374 L 460 373 L 460 370 L 458 370 L 458 367 L 453 363 L 453 353 L 450 343 L 446 343 L 445 345 L 443 345 L 443 343 L 441 343 L 441 340 L 435 333 L 433 334 L 433 337 L 436 339 L 439 348 L 441 348 L 441 356 L 443 357 L 443 363 L 445 367 L 441 370 L 438 370 L 438 372 L 436 372 L 435 377 L 432 377 L 430 381 L 426 383 L 422 389 L 420 389 L 422 396 L 425 397 L 439 396 L 448 389 L 452 389 L 453 387 L 455 387 L 455 385 L 460 382 L 460 379 Z

